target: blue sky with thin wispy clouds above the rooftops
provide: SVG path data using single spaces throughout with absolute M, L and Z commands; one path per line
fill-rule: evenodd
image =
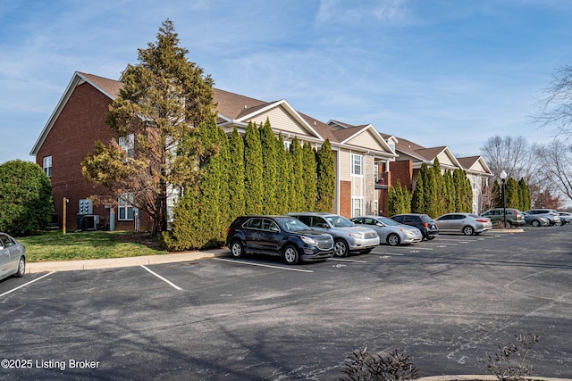
M 568 0 L 0 0 L 0 163 L 29 151 L 75 70 L 119 79 L 174 22 L 215 87 L 459 156 L 529 118 L 572 64 Z

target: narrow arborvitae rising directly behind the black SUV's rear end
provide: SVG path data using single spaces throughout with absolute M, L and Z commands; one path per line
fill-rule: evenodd
M 244 186 L 244 138 L 236 127 L 232 130 L 229 143 L 229 194 L 230 219 L 234 220 L 245 213 L 245 186 Z

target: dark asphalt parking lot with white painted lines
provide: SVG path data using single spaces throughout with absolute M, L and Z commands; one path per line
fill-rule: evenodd
M 357 348 L 486 374 L 518 334 L 572 377 L 572 227 L 441 235 L 287 266 L 231 257 L 0 282 L 1 379 L 331 380 Z

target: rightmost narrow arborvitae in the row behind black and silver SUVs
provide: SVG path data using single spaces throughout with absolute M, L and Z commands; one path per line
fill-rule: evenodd
M 317 185 L 315 211 L 332 211 L 336 185 L 332 145 L 326 139 L 317 154 Z

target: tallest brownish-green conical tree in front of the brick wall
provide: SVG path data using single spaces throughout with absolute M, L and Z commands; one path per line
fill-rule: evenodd
M 202 147 L 194 128 L 215 118 L 213 80 L 179 46 L 172 21 L 164 21 L 155 43 L 139 49 L 139 63 L 123 72 L 123 87 L 107 115 L 119 137 L 133 134 L 128 156 L 118 141 L 97 142 L 82 162 L 86 178 L 132 204 L 153 219 L 152 236 L 167 227 L 167 198 L 197 179 Z

